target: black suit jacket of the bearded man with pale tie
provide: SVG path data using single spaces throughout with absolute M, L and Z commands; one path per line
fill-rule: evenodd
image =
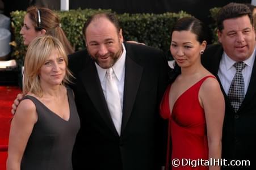
M 94 61 L 86 50 L 69 56 L 71 86 L 81 119 L 74 169 L 157 169 L 165 162 L 166 122 L 158 114 L 169 69 L 160 50 L 125 44 L 121 136 L 108 111 Z

